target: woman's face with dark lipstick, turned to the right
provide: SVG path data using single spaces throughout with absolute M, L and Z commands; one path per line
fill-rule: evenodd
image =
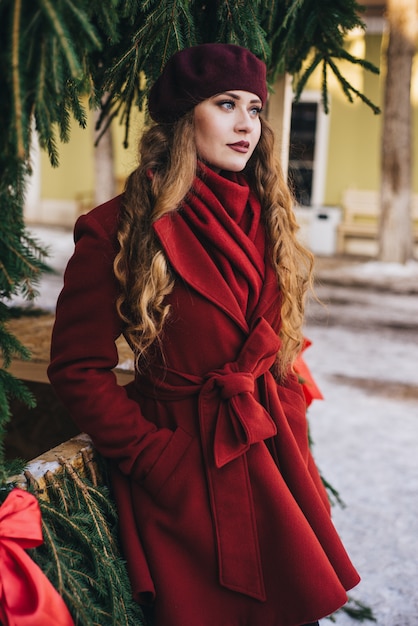
M 248 91 L 225 91 L 194 109 L 197 154 L 215 171 L 240 172 L 260 139 L 262 103 Z

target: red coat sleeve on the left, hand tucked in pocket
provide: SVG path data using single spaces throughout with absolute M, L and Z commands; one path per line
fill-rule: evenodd
M 97 210 L 78 219 L 52 333 L 49 379 L 74 422 L 105 457 L 143 479 L 172 437 L 144 418 L 118 385 L 115 341 L 122 331 L 113 273 L 116 239 Z M 105 215 L 106 218 L 106 215 Z M 113 221 L 115 221 L 113 219 Z

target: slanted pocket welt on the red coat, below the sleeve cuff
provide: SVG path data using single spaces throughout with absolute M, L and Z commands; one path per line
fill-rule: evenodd
M 151 496 L 157 496 L 164 487 L 192 441 L 192 435 L 187 433 L 180 426 L 176 428 L 169 443 L 142 482 L 143 487 Z

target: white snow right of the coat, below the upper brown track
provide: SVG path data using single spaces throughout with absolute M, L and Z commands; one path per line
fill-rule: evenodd
M 418 389 L 416 346 L 394 351 L 367 331 L 307 331 L 306 360 L 325 396 L 309 410 L 314 456 L 347 505 L 334 507 L 334 522 L 362 577 L 350 595 L 372 607 L 379 626 L 416 626 L 418 394 L 390 397 L 368 382 L 407 380 Z M 365 387 L 350 376 L 364 377 Z M 353 620 L 340 614 L 337 624 Z

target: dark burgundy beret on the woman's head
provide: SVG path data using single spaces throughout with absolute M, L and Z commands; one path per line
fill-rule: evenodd
M 196 104 L 217 93 L 249 91 L 264 104 L 266 66 L 241 46 L 205 43 L 176 52 L 151 87 L 150 116 L 156 122 L 174 122 Z

